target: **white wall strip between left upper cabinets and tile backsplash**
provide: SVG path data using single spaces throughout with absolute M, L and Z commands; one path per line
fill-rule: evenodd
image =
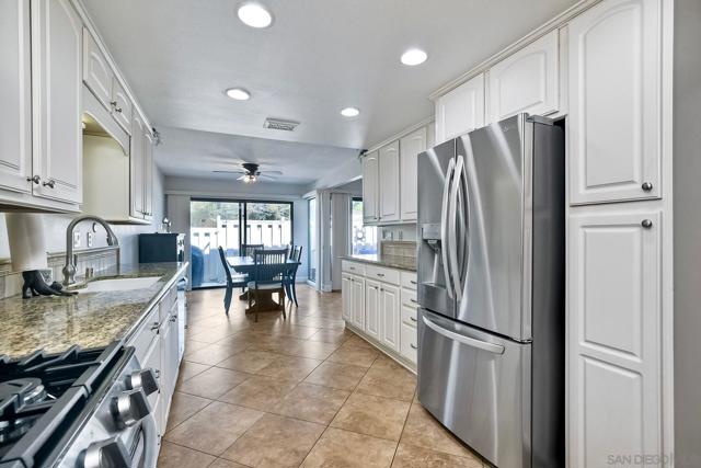
M 139 254 L 138 235 L 143 232 L 154 232 L 159 222 L 163 219 L 164 178 L 157 168 L 153 174 L 153 222 L 151 225 L 112 225 L 112 229 L 117 235 L 120 246 L 122 263 L 137 263 Z M 44 233 L 46 249 L 48 252 L 64 252 L 66 250 L 66 228 L 74 216 L 71 215 L 42 215 L 44 222 Z M 88 231 L 92 227 L 90 222 L 83 222 L 76 229 L 81 232 L 81 248 L 87 247 L 85 239 Z M 106 246 L 106 236 L 101 231 L 94 236 L 93 247 Z M 79 250 L 79 249 L 78 249 Z M 5 228 L 4 214 L 0 213 L 0 259 L 10 256 L 8 244 L 8 231 Z

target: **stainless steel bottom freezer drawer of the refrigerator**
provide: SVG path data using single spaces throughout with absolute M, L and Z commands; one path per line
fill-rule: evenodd
M 531 345 L 446 319 L 418 319 L 418 400 L 499 468 L 530 468 Z

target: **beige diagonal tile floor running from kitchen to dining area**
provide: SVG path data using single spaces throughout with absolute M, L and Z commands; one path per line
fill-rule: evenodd
M 159 468 L 483 467 L 416 401 L 413 374 L 344 329 L 341 295 L 299 287 L 255 323 L 223 290 L 188 297 Z M 486 466 L 486 465 L 484 465 Z

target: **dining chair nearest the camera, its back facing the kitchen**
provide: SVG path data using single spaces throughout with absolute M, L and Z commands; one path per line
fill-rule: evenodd
M 278 294 L 283 318 L 285 313 L 285 273 L 287 272 L 287 249 L 255 250 L 253 252 L 253 281 L 249 282 L 249 308 L 253 301 L 255 321 L 258 321 L 262 294 Z

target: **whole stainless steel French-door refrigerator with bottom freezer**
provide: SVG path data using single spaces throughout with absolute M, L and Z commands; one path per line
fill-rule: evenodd
M 562 468 L 563 130 L 520 114 L 418 174 L 418 399 L 499 468 Z

